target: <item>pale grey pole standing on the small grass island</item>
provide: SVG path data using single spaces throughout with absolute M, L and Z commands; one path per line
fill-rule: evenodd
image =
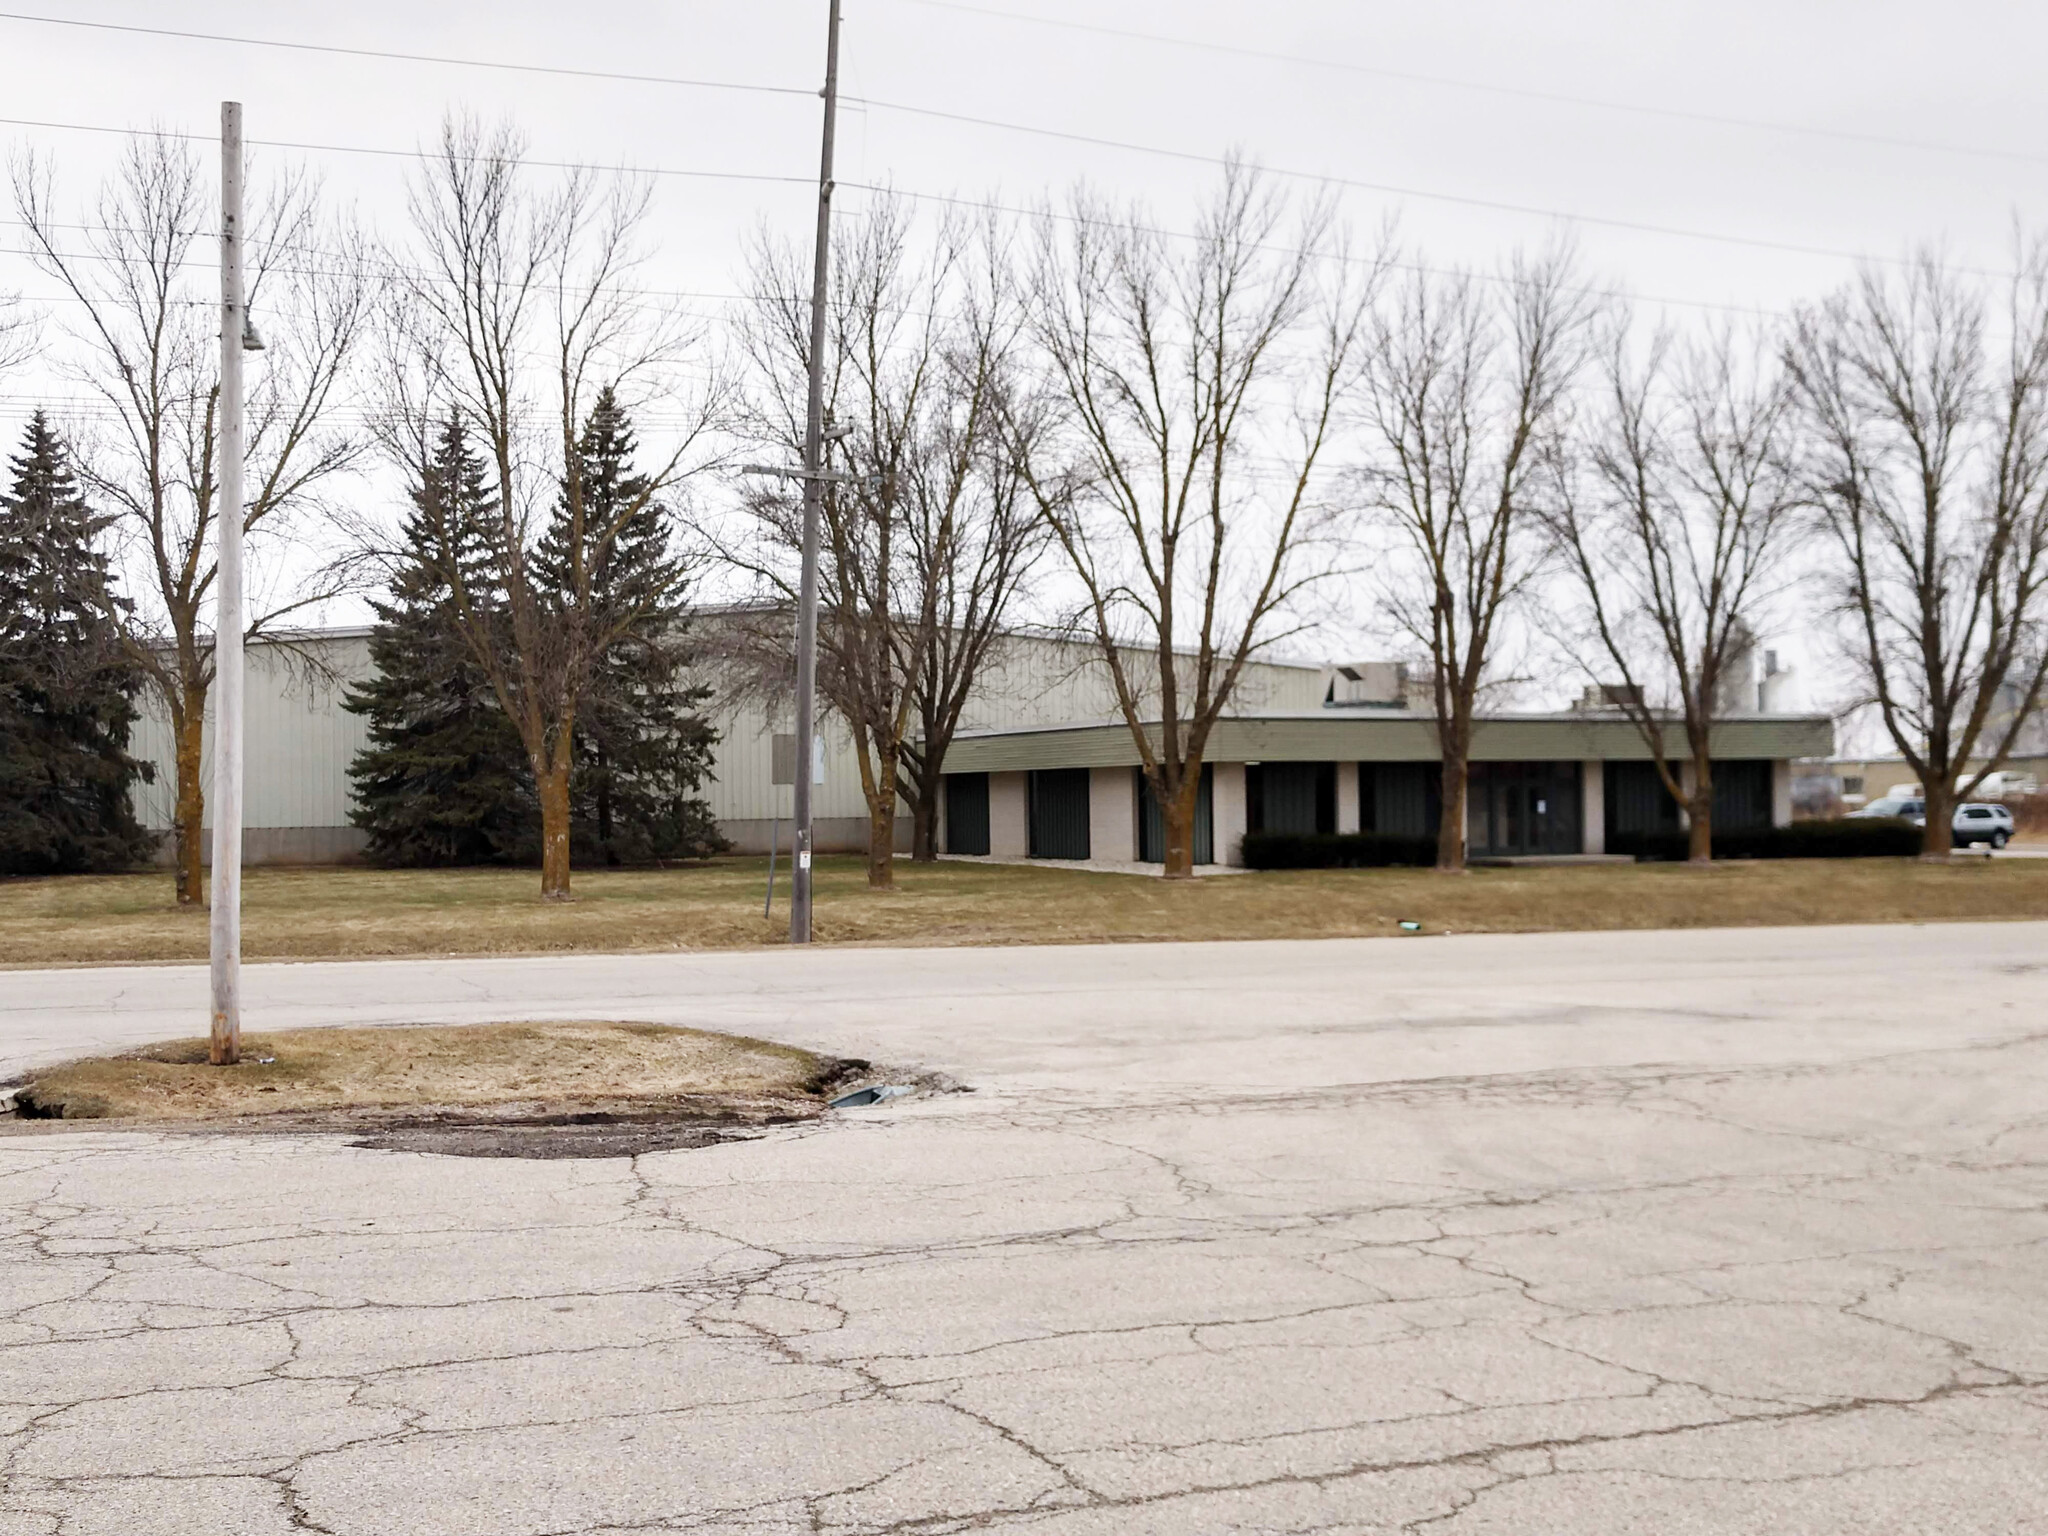
M 213 578 L 213 1028 L 207 1061 L 242 1059 L 242 102 L 221 102 L 219 565 Z

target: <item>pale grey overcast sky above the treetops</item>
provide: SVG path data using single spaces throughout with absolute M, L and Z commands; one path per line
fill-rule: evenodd
M 803 92 L 823 68 L 823 0 L 16 2 L 72 20 Z M 2042 57 L 2048 6 L 1968 0 L 850 0 L 842 84 L 870 104 L 846 109 L 840 178 L 1024 203 L 1085 176 L 1184 223 L 1212 176 L 1200 160 L 903 109 L 1196 158 L 1241 150 L 1270 168 L 1370 184 L 1341 190 L 1354 223 L 1370 229 L 1393 213 L 1438 262 L 1493 264 L 1569 219 L 1593 274 L 1675 305 L 1673 317 L 1772 311 L 1845 281 L 1853 254 L 1890 258 L 1915 242 L 2007 266 L 2013 221 L 2048 225 Z M 233 96 L 256 141 L 403 152 L 428 141 L 446 109 L 467 106 L 516 117 L 545 160 L 797 178 L 662 176 L 649 287 L 731 293 L 745 236 L 766 223 L 805 238 L 813 207 L 809 94 L 29 20 L 0 20 L 0 59 L 10 119 L 213 133 L 219 100 Z M 53 154 L 74 197 L 117 143 L 16 125 L 0 137 Z M 369 221 L 397 221 L 403 158 L 305 158 Z M 858 201 L 848 190 L 844 207 Z M 0 248 L 18 250 L 20 231 Z M 45 285 L 0 256 L 6 289 Z M 20 383 L 0 387 L 8 436 L 25 406 Z

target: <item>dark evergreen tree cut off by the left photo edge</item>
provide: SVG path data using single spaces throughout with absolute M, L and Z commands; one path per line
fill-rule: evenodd
M 0 872 L 123 868 L 147 856 L 127 754 L 141 674 L 63 440 L 29 422 L 0 498 Z

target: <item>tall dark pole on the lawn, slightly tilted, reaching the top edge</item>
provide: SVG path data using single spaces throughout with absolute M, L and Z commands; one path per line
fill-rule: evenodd
M 840 117 L 840 0 L 825 25 L 825 133 L 811 266 L 811 401 L 803 420 L 803 580 L 797 588 L 797 784 L 788 942 L 811 942 L 811 758 L 817 737 L 817 520 L 825 494 L 825 283 L 831 274 L 831 135 Z

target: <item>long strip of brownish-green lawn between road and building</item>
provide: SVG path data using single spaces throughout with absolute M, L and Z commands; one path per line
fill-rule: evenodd
M 244 885 L 244 954 L 539 954 L 750 948 L 786 936 L 786 885 L 762 920 L 766 860 L 575 874 L 539 901 L 535 870 L 258 868 Z M 207 913 L 172 905 L 170 874 L 0 881 L 0 967 L 201 961 Z M 868 891 L 862 862 L 817 868 L 827 944 L 1075 944 L 1174 938 L 1337 938 L 1571 928 L 2048 918 L 2048 860 L 1892 858 L 1430 870 L 1288 870 L 1194 883 L 1018 864 L 897 864 Z

